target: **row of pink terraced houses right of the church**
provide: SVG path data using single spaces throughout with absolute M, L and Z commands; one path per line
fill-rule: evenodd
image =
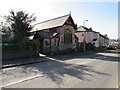
M 75 32 L 78 37 L 78 49 L 85 50 L 104 50 L 108 46 L 109 38 L 99 32 L 93 31 L 92 28 L 80 26 Z M 84 50 L 83 50 L 84 49 Z

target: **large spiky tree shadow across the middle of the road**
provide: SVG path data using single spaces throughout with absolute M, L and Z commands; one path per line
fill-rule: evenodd
M 56 82 L 57 84 L 62 84 L 63 77 L 65 76 L 71 76 L 80 80 L 88 81 L 90 80 L 87 78 L 87 76 L 94 76 L 94 74 L 111 76 L 107 73 L 98 72 L 94 70 L 92 66 L 68 64 L 61 61 L 26 65 L 23 68 L 24 69 L 35 68 L 36 70 L 42 72 L 43 75 L 45 75 L 52 81 Z

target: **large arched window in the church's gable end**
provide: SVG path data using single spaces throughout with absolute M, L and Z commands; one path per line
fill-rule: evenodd
M 72 32 L 69 29 L 64 32 L 64 44 L 72 44 Z

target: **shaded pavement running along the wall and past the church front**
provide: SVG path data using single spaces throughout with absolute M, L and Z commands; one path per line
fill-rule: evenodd
M 91 53 L 95 53 L 94 51 L 86 51 L 86 52 L 80 52 L 80 53 L 74 53 L 74 54 L 79 54 L 81 56 L 83 55 L 89 55 Z M 38 58 L 27 58 L 27 59 L 9 59 L 9 60 L 4 60 L 2 61 L 2 68 L 10 68 L 10 67 L 16 67 L 16 66 L 22 66 L 22 65 L 27 65 L 27 64 L 34 64 L 34 63 L 40 63 L 40 62 L 46 62 L 49 61 L 50 57 L 54 57 L 56 59 L 65 59 L 66 55 L 69 57 L 70 55 L 73 55 L 73 53 L 69 54 L 63 54 L 62 57 L 61 55 L 51 55 L 51 56 L 46 56 L 43 54 L 40 54 Z M 65 56 L 65 57 L 64 57 Z M 68 58 L 66 57 L 66 58 Z

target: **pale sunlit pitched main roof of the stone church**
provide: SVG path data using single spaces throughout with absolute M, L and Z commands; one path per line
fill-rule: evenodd
M 62 26 L 70 16 L 71 15 L 68 14 L 68 15 L 65 15 L 65 16 L 61 16 L 61 17 L 58 17 L 58 18 L 54 18 L 54 19 L 51 19 L 51 20 L 47 20 L 47 21 L 44 21 L 44 22 L 37 23 L 37 24 L 34 25 L 33 29 L 30 32 Z

